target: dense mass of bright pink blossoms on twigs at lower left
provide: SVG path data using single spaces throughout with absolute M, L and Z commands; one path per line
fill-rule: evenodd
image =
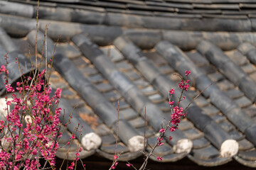
M 1 66 L 0 72 L 8 74 L 4 66 Z M 9 130 L 0 139 L 1 169 L 38 169 L 41 166 L 38 156 L 51 166 L 55 165 L 55 152 L 59 145 L 58 140 L 53 139 L 61 137 L 61 108 L 51 113 L 50 107 L 60 100 L 61 89 L 57 89 L 55 96 L 50 97 L 51 88 L 44 81 L 44 74 L 43 70 L 33 84 L 28 82 L 32 78 L 26 77 L 26 80 L 16 83 L 16 89 L 6 84 L 6 91 L 13 94 L 11 101 L 6 98 L 6 121 L 0 121 L 1 132 Z M 15 90 L 19 95 L 14 94 Z M 9 111 L 11 104 L 14 104 L 14 109 Z

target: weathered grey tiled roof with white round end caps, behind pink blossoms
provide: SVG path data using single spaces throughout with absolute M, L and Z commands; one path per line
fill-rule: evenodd
M 27 73 L 28 45 L 35 55 L 36 3 L 0 1 L 0 65 L 8 52 L 11 82 L 20 75 L 14 58 Z M 41 2 L 38 52 L 50 23 L 47 60 L 60 35 L 50 84 L 63 89 L 60 107 L 65 113 L 75 106 L 57 157 L 65 158 L 70 132 L 82 123 L 80 158 L 97 153 L 112 159 L 118 101 L 120 160 L 142 156 L 144 109 L 146 137 L 152 145 L 164 119 L 170 117 L 166 102 L 170 86 L 180 93 L 174 74 L 184 76 L 189 69 L 192 87 L 183 107 L 212 85 L 191 104 L 178 130 L 167 132 L 173 140 L 166 137 L 155 154 L 163 157 L 162 162 L 188 157 L 202 166 L 218 166 L 235 159 L 256 167 L 255 5 L 250 0 Z M 75 157 L 77 145 L 75 141 L 71 146 L 68 159 Z

